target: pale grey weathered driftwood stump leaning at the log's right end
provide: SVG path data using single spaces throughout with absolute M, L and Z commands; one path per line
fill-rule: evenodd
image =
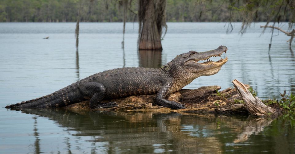
M 262 117 L 277 116 L 277 113 L 275 113 L 270 107 L 263 104 L 258 97 L 254 97 L 243 83 L 236 79 L 234 79 L 232 83 L 234 83 L 234 87 L 244 100 L 246 109 L 250 114 Z

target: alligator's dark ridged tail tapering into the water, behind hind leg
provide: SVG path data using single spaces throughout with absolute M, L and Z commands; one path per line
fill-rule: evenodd
M 6 106 L 7 109 L 21 109 L 21 108 L 47 108 L 47 107 L 62 107 L 73 103 L 78 103 L 84 98 L 80 97 L 81 94 L 78 87 L 70 85 L 62 88 L 52 94 L 42 96 L 40 98 L 23 101 L 21 103 L 11 104 Z

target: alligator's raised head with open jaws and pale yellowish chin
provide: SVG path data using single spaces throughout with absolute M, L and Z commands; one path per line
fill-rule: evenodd
M 172 68 L 171 70 L 175 70 L 173 69 L 175 67 L 178 70 L 181 68 L 181 70 L 193 74 L 195 78 L 202 75 L 213 75 L 227 62 L 227 57 L 225 59 L 221 58 L 221 54 L 226 51 L 226 46 L 219 46 L 217 49 L 206 52 L 190 51 L 176 56 L 174 60 L 168 63 L 168 66 Z M 210 60 L 211 57 L 218 56 L 220 60 Z

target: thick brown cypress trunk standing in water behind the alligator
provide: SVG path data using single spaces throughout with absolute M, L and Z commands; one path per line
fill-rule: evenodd
M 165 19 L 163 18 L 163 9 L 158 8 L 165 8 L 166 1 L 141 0 L 139 3 L 140 35 L 138 48 L 142 50 L 162 50 L 161 27 L 162 21 Z

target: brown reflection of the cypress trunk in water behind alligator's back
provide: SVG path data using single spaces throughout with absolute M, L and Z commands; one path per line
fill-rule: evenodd
M 161 50 L 138 50 L 139 67 L 160 68 L 162 66 Z

